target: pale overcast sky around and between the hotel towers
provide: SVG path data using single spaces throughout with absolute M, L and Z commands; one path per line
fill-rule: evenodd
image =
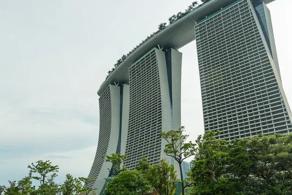
M 88 176 L 99 130 L 96 92 L 123 54 L 192 0 L 0 0 L 0 185 L 51 160 L 57 182 Z M 291 0 L 268 5 L 292 104 Z M 203 133 L 196 42 L 184 46 L 182 125 Z M 189 159 L 191 160 L 191 159 Z

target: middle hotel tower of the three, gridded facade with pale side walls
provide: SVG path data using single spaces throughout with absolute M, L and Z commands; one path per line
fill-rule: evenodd
M 157 164 L 168 159 L 162 131 L 181 126 L 182 53 L 153 48 L 129 68 L 130 108 L 125 166 L 133 169 L 142 156 Z M 176 93 L 172 93 L 176 91 Z

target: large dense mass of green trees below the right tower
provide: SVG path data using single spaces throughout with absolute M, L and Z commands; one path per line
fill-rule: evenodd
M 197 139 L 189 176 L 194 195 L 291 195 L 292 135 L 259 135 L 216 140 L 213 132 Z

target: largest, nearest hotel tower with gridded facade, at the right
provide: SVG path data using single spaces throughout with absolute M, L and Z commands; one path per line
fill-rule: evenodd
M 205 131 L 227 141 L 291 133 L 270 11 L 237 0 L 195 26 Z

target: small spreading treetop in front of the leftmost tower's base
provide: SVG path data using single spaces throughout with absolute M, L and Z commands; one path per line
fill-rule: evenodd
M 121 164 L 122 162 L 125 161 L 125 159 L 127 158 L 126 155 L 122 155 L 121 153 L 119 154 L 111 154 L 110 156 L 106 155 L 106 156 L 102 156 L 107 162 L 111 162 L 112 163 L 112 169 L 109 169 L 109 172 L 113 175 L 116 176 L 119 173 L 127 170 L 126 167 L 123 165 L 121 168 Z

